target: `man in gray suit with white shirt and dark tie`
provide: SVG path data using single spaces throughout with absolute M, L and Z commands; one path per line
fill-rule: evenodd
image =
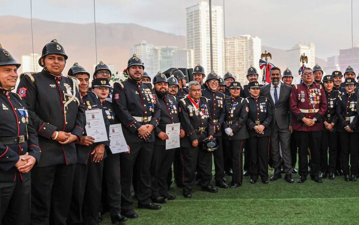
M 292 158 L 290 155 L 290 133 L 293 132 L 291 126 L 292 116 L 290 115 L 289 97 L 292 87 L 286 85 L 281 80 L 281 73 L 278 67 L 272 67 L 270 71 L 271 84 L 261 88 L 261 95 L 266 97 L 272 107 L 273 119 L 270 123 L 271 135 L 271 158 L 273 161 L 274 175 L 271 181 L 281 178 L 281 163 L 279 143 L 284 162 L 285 181 L 293 183 L 292 178 Z

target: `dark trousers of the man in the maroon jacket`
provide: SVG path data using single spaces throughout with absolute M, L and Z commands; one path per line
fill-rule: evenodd
M 311 157 L 311 176 L 318 176 L 320 170 L 320 141 L 322 131 L 294 131 L 298 145 L 299 175 L 308 175 L 308 147 Z

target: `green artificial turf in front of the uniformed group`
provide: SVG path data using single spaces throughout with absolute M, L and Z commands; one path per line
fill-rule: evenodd
M 271 175 L 272 171 L 269 178 Z M 260 179 L 251 184 L 250 177 L 244 177 L 241 187 L 219 188 L 217 193 L 204 192 L 196 186 L 189 199 L 172 184 L 168 193 L 175 194 L 175 200 L 160 204 L 161 210 L 138 209 L 135 201 L 134 210 L 139 217 L 124 224 L 359 224 L 359 181 L 345 182 L 343 176 L 337 176 L 315 183 L 308 175 L 308 180 L 299 184 L 299 175 L 292 176 L 293 184 L 285 182 L 284 174 L 269 184 Z M 226 183 L 232 179 L 227 175 L 225 178 Z M 112 223 L 107 212 L 101 225 L 109 224 Z

